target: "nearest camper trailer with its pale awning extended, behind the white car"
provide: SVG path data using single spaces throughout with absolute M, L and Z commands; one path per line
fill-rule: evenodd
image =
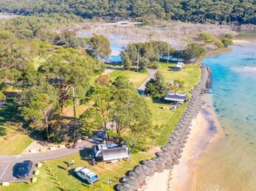
M 91 157 L 97 161 L 111 162 L 130 158 L 129 149 L 120 143 L 99 144 L 94 146 Z

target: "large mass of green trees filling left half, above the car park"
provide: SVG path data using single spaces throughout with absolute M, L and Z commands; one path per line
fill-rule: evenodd
M 58 30 L 80 19 L 72 14 L 0 19 L 0 137 L 12 126 L 52 143 L 75 143 L 116 121 L 107 132 L 111 139 L 127 143 L 131 152 L 148 148 L 144 140 L 151 139 L 154 126 L 145 98 L 124 76 L 102 74 L 102 60 L 111 54 L 108 39 Z M 72 102 L 83 112 L 66 115 Z

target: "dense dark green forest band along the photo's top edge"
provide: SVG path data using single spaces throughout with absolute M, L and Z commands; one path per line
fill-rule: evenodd
M 255 0 L 1 0 L 0 12 L 74 13 L 83 18 L 256 24 Z

